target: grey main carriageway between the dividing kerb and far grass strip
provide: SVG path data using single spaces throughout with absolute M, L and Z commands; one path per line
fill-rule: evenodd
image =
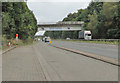
M 118 45 L 79 43 L 67 41 L 52 41 L 55 46 L 71 48 L 82 52 L 106 56 L 118 60 Z

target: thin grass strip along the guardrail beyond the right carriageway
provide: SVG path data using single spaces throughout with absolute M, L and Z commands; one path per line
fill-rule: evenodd
M 97 40 L 65 40 L 65 39 L 56 39 L 58 41 L 69 41 L 69 42 L 79 42 L 79 43 L 96 43 L 96 44 L 111 44 L 111 45 L 119 45 L 119 41 L 97 41 Z

